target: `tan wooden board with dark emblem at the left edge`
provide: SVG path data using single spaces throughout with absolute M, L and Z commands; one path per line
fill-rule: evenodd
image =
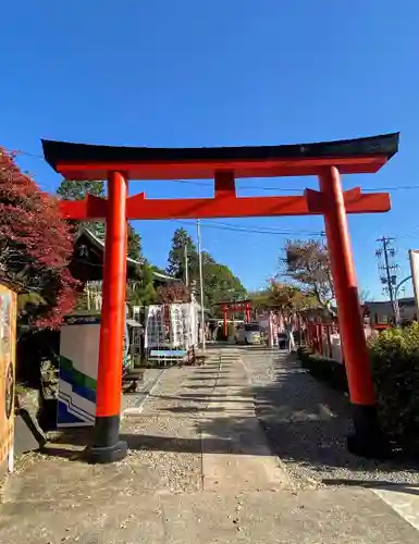
M 0 467 L 13 470 L 16 294 L 0 285 Z

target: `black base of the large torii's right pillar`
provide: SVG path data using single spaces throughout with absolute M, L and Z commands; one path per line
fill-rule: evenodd
M 382 432 L 375 406 L 353 405 L 354 433 L 347 436 L 348 450 L 368 459 L 389 459 L 391 445 Z

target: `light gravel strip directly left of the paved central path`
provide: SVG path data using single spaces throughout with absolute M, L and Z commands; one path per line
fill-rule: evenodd
M 160 492 L 192 493 L 202 487 L 199 418 L 218 375 L 218 362 L 202 369 L 168 369 L 144 411 L 122 422 L 122 438 L 130 446 L 123 462 L 147 467 Z

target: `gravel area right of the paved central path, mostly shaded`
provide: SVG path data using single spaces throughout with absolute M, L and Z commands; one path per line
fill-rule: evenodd
M 415 467 L 350 455 L 348 398 L 316 381 L 298 361 L 269 349 L 241 349 L 256 412 L 296 485 L 419 484 Z

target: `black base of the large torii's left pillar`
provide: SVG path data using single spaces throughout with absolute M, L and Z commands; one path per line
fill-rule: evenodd
M 91 463 L 121 461 L 128 453 L 126 442 L 120 441 L 120 416 L 96 417 L 93 445 L 85 450 Z

